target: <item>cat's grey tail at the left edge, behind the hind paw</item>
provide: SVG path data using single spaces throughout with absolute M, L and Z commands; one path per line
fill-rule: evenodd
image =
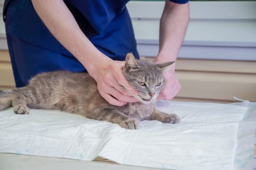
M 12 106 L 14 96 L 20 91 L 20 89 L 22 88 L 0 90 L 0 111 Z

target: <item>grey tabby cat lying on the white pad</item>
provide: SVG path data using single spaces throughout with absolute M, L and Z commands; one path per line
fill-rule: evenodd
M 89 119 L 106 120 L 125 129 L 138 129 L 140 120 L 178 123 L 176 114 L 157 110 L 156 102 L 165 85 L 163 71 L 174 62 L 154 64 L 126 55 L 123 75 L 138 94 L 140 102 L 115 106 L 99 94 L 96 81 L 88 73 L 53 71 L 39 73 L 29 85 L 0 91 L 0 111 L 13 106 L 16 114 L 28 114 L 29 108 L 61 110 Z M 125 88 L 125 87 L 124 87 Z

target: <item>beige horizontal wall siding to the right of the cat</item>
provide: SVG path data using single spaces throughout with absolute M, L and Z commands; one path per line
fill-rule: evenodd
M 177 60 L 182 89 L 178 100 L 233 102 L 233 96 L 256 102 L 256 62 Z

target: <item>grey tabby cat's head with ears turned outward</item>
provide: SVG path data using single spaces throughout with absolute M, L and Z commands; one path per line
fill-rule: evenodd
M 138 91 L 138 95 L 133 94 L 133 96 L 143 103 L 157 100 L 165 85 L 163 72 L 171 68 L 173 63 L 154 64 L 148 61 L 138 61 L 132 53 L 128 53 L 123 74 L 130 85 Z

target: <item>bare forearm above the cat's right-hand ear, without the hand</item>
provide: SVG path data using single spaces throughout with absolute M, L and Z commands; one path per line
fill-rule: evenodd
M 160 20 L 159 52 L 156 62 L 174 61 L 183 42 L 189 21 L 189 3 L 166 0 Z

